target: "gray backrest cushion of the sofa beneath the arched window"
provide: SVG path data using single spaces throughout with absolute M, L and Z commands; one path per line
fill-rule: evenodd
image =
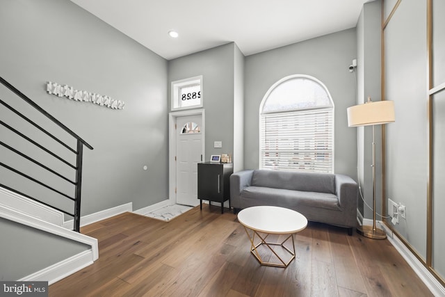
M 316 172 L 254 170 L 252 186 L 335 194 L 335 175 Z

